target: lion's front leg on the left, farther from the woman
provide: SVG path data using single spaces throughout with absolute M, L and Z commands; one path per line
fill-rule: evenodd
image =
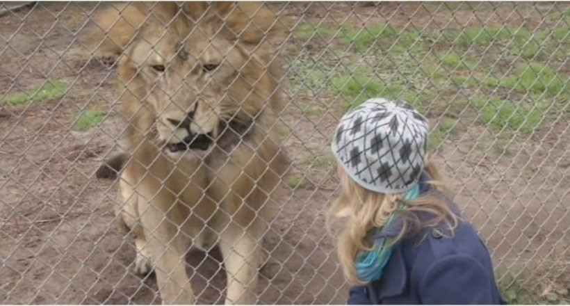
M 194 304 L 194 292 L 186 273 L 186 252 L 191 241 L 180 234 L 168 214 L 152 204 L 141 207 L 141 222 L 163 304 Z

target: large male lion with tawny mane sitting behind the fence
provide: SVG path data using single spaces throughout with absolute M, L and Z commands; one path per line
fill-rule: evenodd
M 191 247 L 218 245 L 226 304 L 254 304 L 261 239 L 289 161 L 277 131 L 284 37 L 263 3 L 156 2 L 102 10 L 96 55 L 117 59 L 128 150 L 117 215 L 135 269 L 154 271 L 163 303 L 193 304 Z M 101 170 L 101 169 L 99 169 Z

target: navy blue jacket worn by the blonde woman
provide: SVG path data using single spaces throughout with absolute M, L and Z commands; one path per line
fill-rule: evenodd
M 421 193 L 432 192 L 421 179 Z M 459 214 L 455 204 L 441 193 Z M 400 223 L 401 225 L 401 223 Z M 391 236 L 399 230 L 386 229 Z M 392 231 L 392 233 L 391 233 Z M 444 223 L 404 239 L 394 250 L 382 278 L 352 287 L 349 305 L 499 305 L 506 304 L 496 285 L 491 257 L 475 229 L 460 222 L 451 235 Z

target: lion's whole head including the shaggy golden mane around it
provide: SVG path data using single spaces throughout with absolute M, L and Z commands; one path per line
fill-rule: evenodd
M 279 79 L 269 40 L 283 31 L 261 3 L 160 2 L 152 14 L 137 7 L 153 16 L 138 34 L 126 42 L 131 28 L 113 32 L 125 40 L 119 73 L 130 98 L 122 107 L 136 139 L 174 156 L 208 152 L 222 129 L 250 126 L 273 101 Z

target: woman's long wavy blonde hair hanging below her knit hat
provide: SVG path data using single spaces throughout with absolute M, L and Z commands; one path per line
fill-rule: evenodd
M 437 191 L 445 193 L 439 172 L 432 162 L 428 162 L 425 172 L 432 178 L 428 184 Z M 383 227 L 393 214 L 398 214 L 402 219 L 402 228 L 389 243 L 398 243 L 421 228 L 433 227 L 441 222 L 447 223 L 452 233 L 457 227 L 459 217 L 453 214 L 443 199 L 430 193 L 421 195 L 416 200 L 407 201 L 404 200 L 404 194 L 392 195 L 368 191 L 350 179 L 343 170 L 339 171 L 339 176 L 341 195 L 329 209 L 328 217 L 348 218 L 339 236 L 337 251 L 345 277 L 351 285 L 366 284 L 357 277 L 355 260 L 360 252 L 373 248 L 370 241 L 367 241 L 368 231 Z M 400 209 L 399 204 L 404 204 L 406 209 Z M 421 221 L 418 218 L 420 212 L 428 213 L 433 218 Z

